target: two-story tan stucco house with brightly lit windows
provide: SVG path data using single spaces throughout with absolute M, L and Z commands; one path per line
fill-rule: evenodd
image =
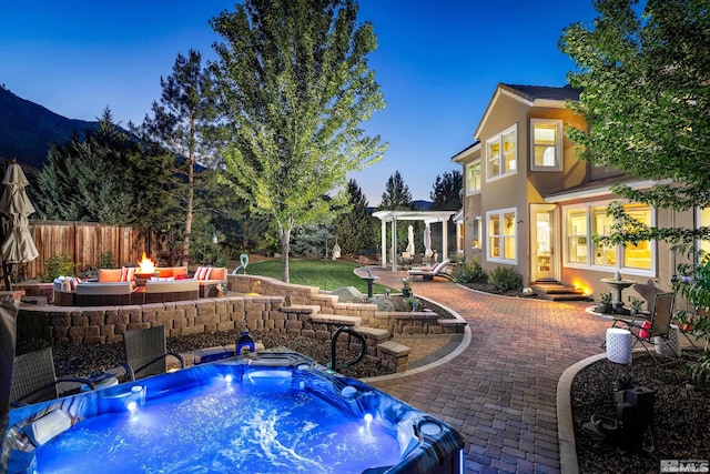
M 579 160 L 567 125 L 584 119 L 565 107 L 579 99 L 570 87 L 499 83 L 474 133 L 475 142 L 452 160 L 463 167 L 464 209 L 457 223 L 457 252 L 486 269 L 515 266 L 524 283 L 559 282 L 598 296 L 611 288 L 602 279 L 617 270 L 625 279 L 670 289 L 681 255 L 655 241 L 626 248 L 596 246 L 594 234 L 609 233 L 609 186 L 625 182 L 649 188 L 609 167 Z M 710 224 L 708 210 L 678 213 L 626 202 L 628 212 L 658 226 Z M 629 288 L 623 299 L 639 296 Z M 597 297 L 598 299 L 598 297 Z

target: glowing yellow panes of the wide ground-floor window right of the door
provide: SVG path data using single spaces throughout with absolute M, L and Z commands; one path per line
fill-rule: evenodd
M 645 204 L 626 204 L 627 214 L 652 225 L 651 208 Z M 630 271 L 636 274 L 650 274 L 653 270 L 653 244 L 641 241 L 626 246 L 596 245 L 594 235 L 609 235 L 613 229 L 613 218 L 607 215 L 606 203 L 595 203 L 565 211 L 566 249 L 565 263 L 576 268 L 605 268 Z M 590 256 L 589 256 L 590 255 Z M 621 263 L 621 265 L 618 265 Z

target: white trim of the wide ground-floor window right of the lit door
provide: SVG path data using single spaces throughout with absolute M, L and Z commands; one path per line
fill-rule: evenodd
M 568 221 L 568 215 L 569 215 L 569 211 L 575 211 L 575 210 L 580 210 L 584 209 L 586 214 L 587 214 L 587 254 L 588 255 L 594 255 L 594 243 L 591 242 L 591 238 L 592 238 L 592 212 L 591 210 L 594 208 L 604 208 L 606 205 L 609 204 L 609 202 L 611 201 L 596 201 L 596 202 L 588 202 L 585 204 L 576 204 L 576 205 L 567 205 L 562 209 L 562 253 L 564 253 L 564 258 L 562 258 L 562 266 L 567 268 L 567 269 L 580 269 L 580 270 L 590 270 L 590 271 L 595 271 L 595 272 L 604 272 L 604 273 L 613 273 L 613 271 L 617 270 L 617 266 L 615 265 L 599 265 L 599 264 L 595 264 L 594 263 L 594 259 L 590 259 L 590 262 L 588 263 L 577 263 L 577 262 L 570 262 L 569 261 L 569 241 L 568 241 L 568 233 L 567 233 L 567 221 Z M 628 202 L 623 202 L 623 204 L 629 204 Z M 656 226 L 656 221 L 657 221 L 657 211 L 656 208 L 650 206 L 651 209 L 651 226 Z M 637 268 L 632 268 L 632 266 L 620 266 L 619 271 L 625 274 L 625 275 L 636 275 L 636 276 L 650 276 L 653 278 L 656 276 L 656 270 L 657 270 L 657 265 L 658 265 L 658 256 L 657 256 L 657 242 L 655 240 L 652 240 L 650 242 L 650 246 L 651 246 L 651 268 L 649 270 L 645 270 L 645 269 L 637 269 Z M 616 249 L 616 258 L 617 258 L 617 262 L 622 264 L 623 263 L 623 251 L 625 249 L 621 245 L 617 245 Z

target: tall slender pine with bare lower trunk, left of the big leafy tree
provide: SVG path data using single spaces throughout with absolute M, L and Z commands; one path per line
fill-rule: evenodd
M 153 118 L 145 115 L 141 131 L 162 143 L 175 158 L 171 189 L 184 212 L 182 246 L 189 254 L 193 214 L 202 206 L 195 190 L 205 189 L 209 183 L 207 174 L 195 173 L 195 170 L 216 165 L 216 93 L 210 70 L 202 67 L 202 54 L 194 50 L 190 50 L 187 57 L 178 54 L 172 73 L 161 78 L 160 85 L 163 89 L 160 102 L 153 102 Z

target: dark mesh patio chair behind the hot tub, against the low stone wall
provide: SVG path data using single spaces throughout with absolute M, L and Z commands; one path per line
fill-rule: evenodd
M 126 331 L 123 333 L 125 362 L 121 363 L 129 380 L 143 379 L 168 372 L 169 355 L 178 359 L 180 369 L 185 367 L 184 359 L 174 352 L 168 352 L 165 326 L 146 330 Z

